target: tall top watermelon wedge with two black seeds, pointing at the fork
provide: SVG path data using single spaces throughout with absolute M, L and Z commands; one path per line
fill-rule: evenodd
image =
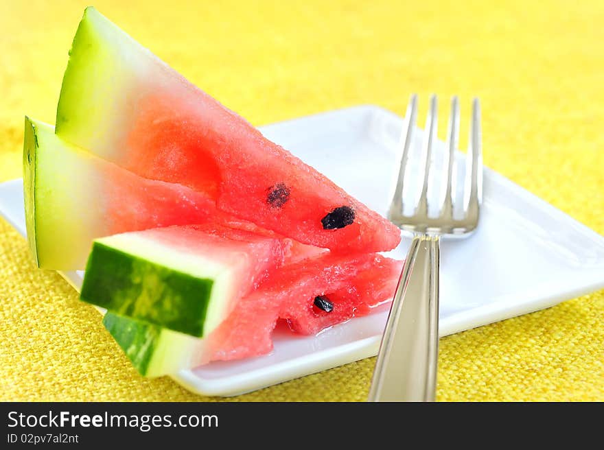
M 145 178 L 338 252 L 390 250 L 398 228 L 268 141 L 94 8 L 75 34 L 56 133 Z M 121 202 L 119 203 L 122 204 Z

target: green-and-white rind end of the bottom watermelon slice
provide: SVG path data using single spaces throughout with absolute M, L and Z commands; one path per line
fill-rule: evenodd
M 108 311 L 103 324 L 144 377 L 161 377 L 189 368 L 200 340 Z

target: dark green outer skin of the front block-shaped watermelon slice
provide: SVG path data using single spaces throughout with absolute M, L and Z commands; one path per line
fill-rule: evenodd
M 95 241 L 80 298 L 121 316 L 201 337 L 212 288 L 212 279 Z

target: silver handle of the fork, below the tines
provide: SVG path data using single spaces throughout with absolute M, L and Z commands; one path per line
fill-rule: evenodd
M 413 238 L 377 354 L 369 401 L 434 401 L 439 353 L 439 238 Z

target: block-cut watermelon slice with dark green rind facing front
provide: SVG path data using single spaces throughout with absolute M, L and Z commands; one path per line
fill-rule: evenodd
M 283 264 L 290 239 L 220 225 L 96 239 L 80 298 L 122 316 L 202 337 Z

